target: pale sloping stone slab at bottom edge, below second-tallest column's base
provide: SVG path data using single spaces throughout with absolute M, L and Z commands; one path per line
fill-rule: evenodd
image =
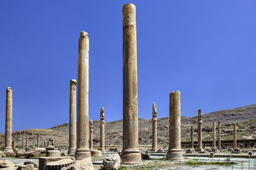
M 74 164 L 68 167 L 63 167 L 61 170 L 93 170 L 94 167 L 92 165 L 92 159 L 91 157 L 82 159 L 82 160 L 77 160 Z

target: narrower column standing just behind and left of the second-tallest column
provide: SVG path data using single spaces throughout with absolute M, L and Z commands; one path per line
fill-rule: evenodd
M 76 152 L 76 83 L 76 80 L 70 80 L 68 155 L 74 155 Z

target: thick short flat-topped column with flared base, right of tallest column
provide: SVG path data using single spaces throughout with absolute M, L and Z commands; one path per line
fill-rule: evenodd
M 170 111 L 169 111 L 169 149 L 166 159 L 182 160 L 182 149 L 180 143 L 180 92 L 170 93 Z

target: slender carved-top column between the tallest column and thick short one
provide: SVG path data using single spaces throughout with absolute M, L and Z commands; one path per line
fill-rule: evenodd
M 157 112 L 156 112 L 156 104 L 152 103 L 152 151 L 157 151 Z

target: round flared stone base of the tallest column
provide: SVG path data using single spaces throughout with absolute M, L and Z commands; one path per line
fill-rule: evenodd
M 120 158 L 122 159 L 122 164 L 124 165 L 142 163 L 140 150 L 123 150 Z

